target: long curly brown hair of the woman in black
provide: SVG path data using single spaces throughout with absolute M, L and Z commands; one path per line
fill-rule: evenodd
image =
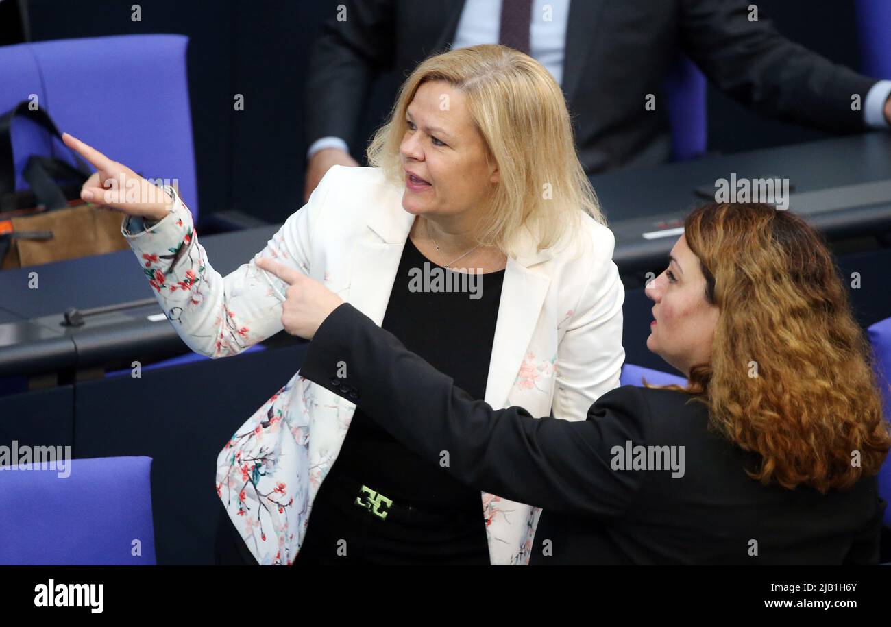
M 763 484 L 825 493 L 876 475 L 891 429 L 822 236 L 789 211 L 746 203 L 697 208 L 684 236 L 720 314 L 711 363 L 667 388 L 706 403 L 710 428 L 756 452 L 747 472 Z

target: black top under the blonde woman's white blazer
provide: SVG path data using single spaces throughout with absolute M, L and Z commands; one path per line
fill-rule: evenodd
M 462 276 L 431 263 L 409 239 L 382 327 L 453 378 L 470 396 L 482 399 L 503 278 L 502 270 L 473 276 L 470 281 L 466 273 Z M 459 291 L 442 291 L 445 289 Z M 353 373 L 347 374 L 347 379 L 352 379 Z M 440 459 L 438 451 L 421 457 L 400 444 L 369 419 L 359 403 L 331 473 L 346 473 L 401 505 L 472 512 L 474 519 L 482 521 L 479 491 L 440 472 Z

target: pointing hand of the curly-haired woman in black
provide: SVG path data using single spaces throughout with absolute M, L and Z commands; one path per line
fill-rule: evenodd
M 343 305 L 344 301 L 322 283 L 287 265 L 263 257 L 254 263 L 288 284 L 282 303 L 282 327 L 290 335 L 312 339 L 329 314 Z

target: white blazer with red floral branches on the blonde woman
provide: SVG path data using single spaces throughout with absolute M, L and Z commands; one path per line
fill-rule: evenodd
M 414 218 L 402 195 L 377 168 L 332 167 L 257 256 L 322 281 L 380 325 Z M 572 248 L 530 245 L 508 259 L 486 379 L 485 400 L 495 408 L 581 420 L 618 386 L 625 291 L 614 239 L 588 216 L 581 231 Z M 217 273 L 178 197 L 158 223 L 145 229 L 126 216 L 121 232 L 196 353 L 227 357 L 282 330 L 286 286 L 253 259 Z M 297 556 L 355 409 L 298 371 L 225 443 L 217 495 L 260 564 L 290 565 Z M 539 510 L 494 494 L 481 501 L 492 564 L 527 564 Z

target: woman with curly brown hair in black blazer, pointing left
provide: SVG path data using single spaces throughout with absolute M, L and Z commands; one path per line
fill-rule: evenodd
M 474 401 L 315 281 L 282 324 L 369 415 L 468 485 L 544 508 L 537 564 L 875 563 L 891 446 L 871 354 L 820 236 L 767 205 L 695 210 L 647 287 L 647 346 L 688 387 L 619 387 L 587 420 Z M 315 336 L 315 337 L 314 337 Z M 332 390 L 336 391 L 336 390 Z

